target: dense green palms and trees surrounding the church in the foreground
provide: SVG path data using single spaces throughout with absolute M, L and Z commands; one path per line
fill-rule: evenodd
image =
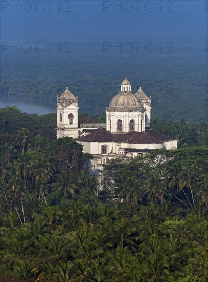
M 180 149 L 112 159 L 100 191 L 55 114 L 0 118 L 1 282 L 207 281 L 206 123 L 153 119 Z

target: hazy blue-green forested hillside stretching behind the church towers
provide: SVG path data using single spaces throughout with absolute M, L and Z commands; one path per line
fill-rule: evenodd
M 104 53 L 102 43 L 80 43 L 72 45 L 71 51 L 4 52 L 1 94 L 20 92 L 56 99 L 69 85 L 74 94 L 78 89 L 80 108 L 102 112 L 128 74 L 134 92 L 141 86 L 152 97 L 153 117 L 207 120 L 207 62 L 203 49 Z

